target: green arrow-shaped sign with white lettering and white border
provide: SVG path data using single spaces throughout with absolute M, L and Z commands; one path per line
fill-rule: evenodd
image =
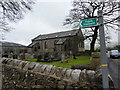
M 81 28 L 93 27 L 93 26 L 97 26 L 97 25 L 98 25 L 97 18 L 83 19 L 80 21 Z

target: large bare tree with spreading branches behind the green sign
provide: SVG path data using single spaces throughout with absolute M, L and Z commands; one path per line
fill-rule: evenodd
M 117 27 L 119 26 L 117 21 L 120 18 L 120 14 L 118 15 L 120 5 L 118 5 L 116 0 L 112 0 L 111 2 L 108 2 L 108 0 L 104 0 L 104 2 L 100 2 L 100 0 L 95 0 L 95 2 L 93 2 L 93 0 L 74 0 L 72 6 L 73 8 L 66 17 L 64 25 L 70 24 L 73 25 L 74 28 L 79 28 L 81 19 L 94 18 L 97 16 L 98 10 L 103 10 L 106 39 L 110 39 L 109 31 L 117 30 Z M 97 39 L 99 39 L 98 28 L 99 26 L 96 26 L 84 30 L 85 39 L 91 41 L 91 52 L 94 51 L 95 43 Z

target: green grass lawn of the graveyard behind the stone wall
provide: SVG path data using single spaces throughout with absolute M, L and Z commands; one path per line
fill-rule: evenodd
M 70 68 L 71 65 L 85 65 L 85 64 L 90 64 L 90 56 L 76 56 L 77 59 L 72 59 L 68 58 L 65 60 L 68 60 L 68 63 L 61 63 L 60 61 L 56 62 L 38 62 L 40 64 L 48 64 L 48 65 L 54 65 L 57 67 L 65 67 L 65 68 Z M 26 59 L 26 61 L 29 62 L 36 62 L 37 59 Z

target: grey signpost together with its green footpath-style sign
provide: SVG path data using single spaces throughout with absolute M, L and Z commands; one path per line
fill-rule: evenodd
M 103 25 L 103 15 L 102 10 L 98 11 L 98 18 L 89 18 L 80 21 L 81 28 L 89 28 L 99 25 L 100 34 L 100 49 L 101 49 L 101 67 L 102 67 L 102 82 L 103 89 L 109 89 L 109 79 L 108 79 L 108 64 L 106 55 L 106 45 L 105 45 L 105 34 Z

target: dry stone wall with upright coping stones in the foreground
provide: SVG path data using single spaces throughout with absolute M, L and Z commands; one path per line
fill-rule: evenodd
M 18 90 L 18 88 L 22 88 L 22 90 L 23 88 L 92 90 L 101 88 L 101 84 L 95 83 L 95 71 L 92 70 L 72 70 L 15 59 L 1 60 L 3 63 L 3 90 Z

